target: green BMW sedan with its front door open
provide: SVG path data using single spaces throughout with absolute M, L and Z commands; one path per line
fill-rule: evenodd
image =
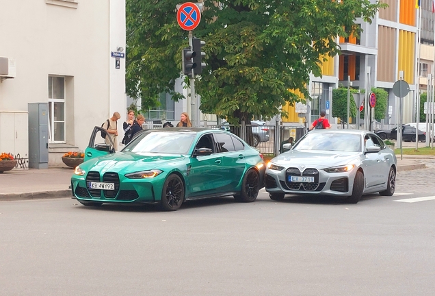
M 71 177 L 72 195 L 85 206 L 159 204 L 178 210 L 184 201 L 233 195 L 255 201 L 264 186 L 259 151 L 222 130 L 172 127 L 147 130 L 121 151 L 94 127 L 85 162 Z

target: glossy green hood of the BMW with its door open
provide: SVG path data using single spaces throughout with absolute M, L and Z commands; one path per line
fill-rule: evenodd
M 149 169 L 161 169 L 163 165 L 183 160 L 185 156 L 174 154 L 117 152 L 107 156 L 90 159 L 80 165 L 88 171 L 111 171 L 115 173 L 134 173 Z

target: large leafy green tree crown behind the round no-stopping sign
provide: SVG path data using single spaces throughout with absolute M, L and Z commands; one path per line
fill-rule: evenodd
M 218 3 L 215 5 L 214 3 Z M 176 23 L 179 0 L 127 0 L 127 93 L 142 106 L 157 104 L 161 92 L 173 93 L 181 73 L 187 32 Z M 321 76 L 326 56 L 340 53 L 337 36 L 358 34 L 356 18 L 371 22 L 386 7 L 370 0 L 222 0 L 206 1 L 194 36 L 207 44 L 208 66 L 196 79 L 202 112 L 230 123 L 269 118 L 280 106 L 309 97 L 309 75 Z M 345 30 L 345 28 L 348 28 Z

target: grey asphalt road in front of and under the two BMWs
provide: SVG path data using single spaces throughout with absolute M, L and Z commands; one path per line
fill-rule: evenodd
M 433 295 L 435 194 L 407 182 L 434 170 L 399 172 L 396 195 L 356 205 L 2 201 L 0 295 Z

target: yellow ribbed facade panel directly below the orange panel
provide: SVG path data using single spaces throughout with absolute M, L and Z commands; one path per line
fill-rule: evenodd
M 415 34 L 412 32 L 399 31 L 399 56 L 397 57 L 397 79 L 399 71 L 404 71 L 404 80 L 408 84 L 414 84 L 414 46 Z

